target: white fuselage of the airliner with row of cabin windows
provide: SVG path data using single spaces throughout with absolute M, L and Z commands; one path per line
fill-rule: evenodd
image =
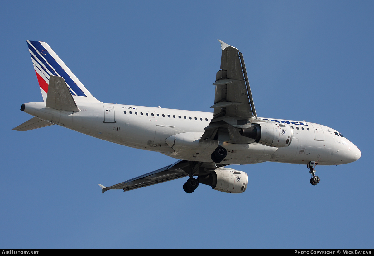
M 43 120 L 105 141 L 161 152 L 174 158 L 211 162 L 217 140 L 199 143 L 213 113 L 133 105 L 86 103 L 79 112 L 45 107 L 45 102 L 25 104 L 25 112 Z M 289 146 L 276 148 L 249 138 L 224 142 L 224 164 L 251 164 L 263 161 L 319 165 L 345 164 L 361 157 L 359 149 L 329 127 L 293 120 L 260 118 L 288 124 L 293 129 Z M 231 143 L 232 142 L 232 143 Z

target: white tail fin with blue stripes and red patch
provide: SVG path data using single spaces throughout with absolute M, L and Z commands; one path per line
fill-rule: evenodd
M 49 76 L 63 77 L 76 102 L 98 102 L 45 42 L 27 41 L 43 100 L 47 99 Z

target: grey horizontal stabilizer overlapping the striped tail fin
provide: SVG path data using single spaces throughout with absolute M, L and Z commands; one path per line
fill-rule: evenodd
M 50 75 L 46 107 L 64 111 L 80 111 L 63 77 Z

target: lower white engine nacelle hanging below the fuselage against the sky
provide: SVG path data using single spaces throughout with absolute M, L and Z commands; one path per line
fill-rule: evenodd
M 220 167 L 206 176 L 199 176 L 199 183 L 212 186 L 212 189 L 221 192 L 243 193 L 247 188 L 248 175 L 245 172 Z

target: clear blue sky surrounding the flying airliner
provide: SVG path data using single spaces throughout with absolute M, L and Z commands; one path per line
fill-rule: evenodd
M 373 248 L 373 1 L 2 1 L 0 248 Z M 26 40 L 102 102 L 211 111 L 217 39 L 244 56 L 261 117 L 332 127 L 362 157 L 262 163 L 243 194 L 185 179 L 114 185 L 174 163 L 59 126 L 11 130 L 42 101 Z

